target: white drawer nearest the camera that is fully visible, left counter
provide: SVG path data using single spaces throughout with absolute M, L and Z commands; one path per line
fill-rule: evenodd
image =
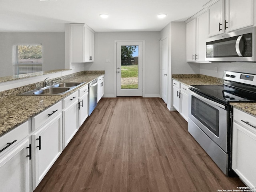
M 40 128 L 40 126 L 44 125 L 46 122 L 48 122 L 53 117 L 57 116 L 62 110 L 62 104 L 61 101 L 54 104 L 50 108 L 44 110 L 40 114 L 34 116 L 32 118 L 32 131 Z

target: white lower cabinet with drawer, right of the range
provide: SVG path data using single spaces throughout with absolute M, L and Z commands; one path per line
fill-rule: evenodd
M 232 169 L 249 187 L 256 187 L 256 117 L 234 108 Z

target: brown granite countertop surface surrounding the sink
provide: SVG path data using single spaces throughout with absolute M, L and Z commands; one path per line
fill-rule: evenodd
M 103 75 L 97 74 L 82 74 L 60 82 L 92 82 L 94 79 Z M 81 86 L 84 86 L 83 84 Z M 63 95 L 56 96 L 8 96 L 0 100 L 0 136 L 9 132 L 13 128 L 26 122 L 28 119 L 36 116 L 46 108 L 56 104 L 66 96 L 78 90 L 81 86 L 67 92 Z

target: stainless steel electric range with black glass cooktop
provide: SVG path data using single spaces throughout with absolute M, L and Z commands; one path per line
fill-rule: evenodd
M 234 175 L 230 102 L 256 102 L 256 74 L 224 72 L 223 85 L 192 85 L 188 132 L 227 176 Z

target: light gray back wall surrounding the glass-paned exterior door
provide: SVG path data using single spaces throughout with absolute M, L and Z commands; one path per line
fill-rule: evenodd
M 159 96 L 160 32 L 96 32 L 93 63 L 85 63 L 84 70 L 105 70 L 105 96 L 114 96 L 114 41 L 145 40 L 145 96 Z M 106 59 L 110 60 L 106 63 Z

